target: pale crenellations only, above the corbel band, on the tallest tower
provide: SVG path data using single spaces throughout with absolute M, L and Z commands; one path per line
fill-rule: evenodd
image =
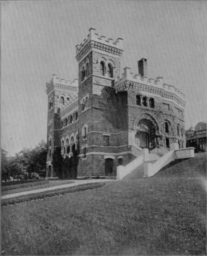
M 81 52 L 83 48 L 89 43 L 89 42 L 96 42 L 96 43 L 101 43 L 109 47 L 113 47 L 118 49 L 119 51 L 123 51 L 123 39 L 122 38 L 117 38 L 116 40 L 113 40 L 112 38 L 107 38 L 106 36 L 99 35 L 95 29 L 90 28 L 89 29 L 89 34 L 87 35 L 87 38 L 84 39 L 84 41 L 81 44 L 77 44 L 75 46 L 76 48 L 76 58 L 77 55 Z M 102 49 L 97 47 L 98 49 Z

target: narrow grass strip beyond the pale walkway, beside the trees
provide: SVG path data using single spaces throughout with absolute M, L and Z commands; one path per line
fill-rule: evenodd
M 35 182 L 23 183 L 18 185 L 9 185 L 1 187 L 1 195 L 8 195 L 22 191 L 29 191 L 35 189 L 42 189 L 47 187 L 53 187 L 57 185 L 73 183 L 71 180 L 51 179 L 51 180 L 40 180 Z

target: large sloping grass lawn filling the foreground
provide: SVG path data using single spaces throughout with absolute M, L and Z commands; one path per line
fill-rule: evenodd
M 206 255 L 199 157 L 148 179 L 4 206 L 2 255 Z

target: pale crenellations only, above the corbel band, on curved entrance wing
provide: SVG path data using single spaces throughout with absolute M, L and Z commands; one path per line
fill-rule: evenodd
M 117 80 L 115 81 L 115 88 L 119 86 L 121 83 L 124 81 L 130 81 L 134 83 L 141 83 L 144 85 L 149 85 L 153 86 L 159 89 L 163 89 L 166 92 L 173 93 L 180 97 L 181 99 L 185 99 L 184 93 L 182 93 L 180 90 L 178 90 L 175 86 L 163 83 L 163 77 L 156 77 L 156 78 L 151 78 L 151 77 L 142 77 L 139 74 L 135 74 L 131 72 L 131 68 L 125 67 L 124 72 L 121 74 L 120 77 L 117 77 Z

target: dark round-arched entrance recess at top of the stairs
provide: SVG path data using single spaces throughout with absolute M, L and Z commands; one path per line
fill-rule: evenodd
M 144 149 L 152 149 L 156 145 L 157 127 L 149 119 L 141 119 L 137 125 L 135 145 Z

